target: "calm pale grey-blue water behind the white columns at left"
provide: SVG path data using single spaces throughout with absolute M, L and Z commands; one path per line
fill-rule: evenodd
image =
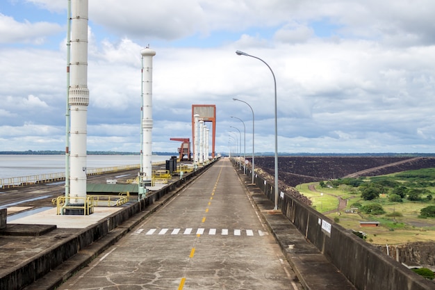
M 153 155 L 152 162 L 169 160 L 171 156 Z M 88 168 L 140 164 L 139 155 L 88 155 Z M 65 155 L 2 155 L 0 179 L 65 172 Z

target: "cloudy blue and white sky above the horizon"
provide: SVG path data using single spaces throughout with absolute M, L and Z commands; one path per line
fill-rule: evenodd
M 274 152 L 273 75 L 240 50 L 274 72 L 279 152 L 433 153 L 434 15 L 433 0 L 91 0 L 87 149 L 140 151 L 149 45 L 153 152 L 215 104 L 215 152 L 252 154 L 233 98 L 255 152 Z M 0 35 L 0 151 L 65 150 L 67 1 L 1 0 Z

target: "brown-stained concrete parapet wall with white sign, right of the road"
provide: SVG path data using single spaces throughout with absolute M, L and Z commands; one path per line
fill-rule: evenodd
M 274 202 L 274 184 L 256 175 L 255 184 Z M 283 196 L 284 195 L 284 196 Z M 413 273 L 318 211 L 281 193 L 281 212 L 305 238 L 361 290 L 430 290 L 435 284 Z M 323 228 L 322 228 L 323 225 Z

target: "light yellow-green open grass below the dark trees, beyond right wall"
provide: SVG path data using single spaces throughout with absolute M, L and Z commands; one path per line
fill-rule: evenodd
M 315 187 L 315 191 L 311 190 Z M 310 189 L 311 187 L 311 189 Z M 415 241 L 434 241 L 435 240 L 435 218 L 418 218 L 420 209 L 429 205 L 430 202 L 390 202 L 388 196 L 381 195 L 375 200 L 365 201 L 361 199 L 361 193 L 355 188 L 345 186 L 344 188 L 321 188 L 319 183 L 300 184 L 297 190 L 308 197 L 312 202 L 312 207 L 325 216 L 334 220 L 338 218 L 338 225 L 346 229 L 354 229 L 367 234 L 368 243 L 379 245 L 393 245 Z M 434 188 L 430 188 L 431 190 Z M 338 198 L 347 200 L 345 209 L 338 214 Z M 363 205 L 369 203 L 380 203 L 386 214 L 372 216 L 368 214 L 350 213 L 351 204 L 359 202 Z M 388 214 L 400 213 L 402 216 L 389 217 Z M 378 227 L 361 227 L 359 221 L 379 221 Z

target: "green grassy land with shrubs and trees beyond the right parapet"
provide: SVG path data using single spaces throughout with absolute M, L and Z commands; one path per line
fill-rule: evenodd
M 420 210 L 435 205 L 435 168 L 410 170 L 377 177 L 338 179 L 301 184 L 300 193 L 313 202 L 313 207 L 338 224 L 366 234 L 366 241 L 375 244 L 398 244 L 435 240 L 435 218 L 420 218 Z M 364 200 L 361 193 L 370 186 L 379 187 L 379 197 Z M 397 188 L 406 188 L 403 198 L 391 201 Z M 411 198 L 410 196 L 413 195 Z M 343 201 L 340 204 L 340 199 Z M 411 199 L 411 200 L 410 200 Z M 416 200 L 417 199 L 417 200 Z M 384 214 L 368 214 L 361 207 L 379 204 Z M 356 209 L 359 208 L 359 209 Z M 379 227 L 360 227 L 360 220 L 379 221 Z

